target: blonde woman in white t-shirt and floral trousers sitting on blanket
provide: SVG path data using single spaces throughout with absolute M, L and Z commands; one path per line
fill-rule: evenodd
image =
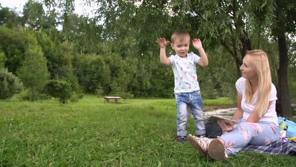
M 227 159 L 228 154 L 239 152 L 247 144 L 268 145 L 279 138 L 275 112 L 276 89 L 271 83 L 267 54 L 258 49 L 248 51 L 240 69 L 242 77 L 235 83 L 237 109 L 232 118 L 238 123 L 218 121 L 225 132 L 217 139 L 199 138 L 191 134 L 187 137 L 201 156 Z

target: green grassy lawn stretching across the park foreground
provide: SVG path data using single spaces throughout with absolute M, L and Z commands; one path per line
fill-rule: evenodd
M 201 158 L 176 142 L 174 99 L 78 103 L 0 101 L 1 166 L 294 166 L 286 155 L 242 151 L 228 161 Z M 222 104 L 232 105 L 227 99 Z M 205 105 L 218 102 L 205 100 Z M 190 117 L 188 133 L 194 134 Z

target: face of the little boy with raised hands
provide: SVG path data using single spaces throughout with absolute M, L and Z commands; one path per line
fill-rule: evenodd
M 178 54 L 178 56 L 180 56 L 182 58 L 186 58 L 187 57 L 187 53 L 189 51 L 190 38 L 187 37 L 182 42 L 180 41 L 180 39 L 176 39 L 174 41 L 174 43 L 172 43 L 171 45 L 172 45 L 172 48 Z

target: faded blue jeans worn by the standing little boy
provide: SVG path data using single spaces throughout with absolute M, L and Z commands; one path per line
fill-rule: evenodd
M 203 112 L 203 101 L 200 91 L 175 93 L 175 97 L 177 105 L 177 135 L 187 135 L 186 124 L 189 116 L 188 106 L 191 108 L 195 120 L 195 133 L 197 135 L 205 134 L 205 114 Z

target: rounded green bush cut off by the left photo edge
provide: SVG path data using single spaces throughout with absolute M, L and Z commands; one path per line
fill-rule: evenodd
M 0 69 L 0 99 L 11 98 L 14 94 L 20 93 L 23 88 L 23 83 L 16 75 L 6 68 Z

